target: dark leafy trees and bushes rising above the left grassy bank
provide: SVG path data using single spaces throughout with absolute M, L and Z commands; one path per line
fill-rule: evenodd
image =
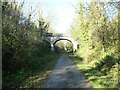
M 3 71 L 8 73 L 28 67 L 27 65 L 30 63 L 28 57 L 33 52 L 42 54 L 45 47 L 48 46 L 47 43 L 41 42 L 42 35 L 47 32 L 48 23 L 40 18 L 39 27 L 37 27 L 31 22 L 31 13 L 26 19 L 22 15 L 22 4 L 20 6 L 12 2 L 2 4 Z

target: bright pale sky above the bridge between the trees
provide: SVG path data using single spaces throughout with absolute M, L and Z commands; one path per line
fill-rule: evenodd
M 30 6 L 32 6 L 33 10 L 35 8 L 42 10 L 43 17 L 50 19 L 51 27 L 57 33 L 67 33 L 76 17 L 74 7 L 76 4 L 77 0 L 40 0 L 39 2 L 35 0 L 25 3 L 24 13 L 27 15 Z M 38 17 L 36 15 L 36 18 Z

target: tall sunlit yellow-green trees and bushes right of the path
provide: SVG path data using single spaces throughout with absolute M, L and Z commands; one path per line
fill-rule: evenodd
M 71 35 L 78 40 L 80 45 L 76 55 L 82 57 L 83 62 L 92 67 L 91 70 L 100 72 L 104 79 L 109 77 L 105 81 L 101 79 L 96 82 L 106 85 L 105 87 L 117 87 L 118 46 L 120 46 L 118 13 L 113 14 L 109 9 L 118 9 L 109 3 L 94 2 L 94 0 L 91 0 L 88 7 L 85 7 L 82 2 L 79 6 L 79 15 L 71 29 Z M 113 16 L 112 18 L 109 17 L 108 11 Z M 109 80 L 110 78 L 113 81 Z

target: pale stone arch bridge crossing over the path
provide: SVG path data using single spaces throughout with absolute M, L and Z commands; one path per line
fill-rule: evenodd
M 73 52 L 75 52 L 77 50 L 77 48 L 78 48 L 77 41 L 75 41 L 72 37 L 66 36 L 64 34 L 60 34 L 60 33 L 55 33 L 55 34 L 53 34 L 53 33 L 46 33 L 45 35 L 43 35 L 42 39 L 50 43 L 52 51 L 54 51 L 55 43 L 57 41 L 60 41 L 60 40 L 70 41 L 73 44 Z

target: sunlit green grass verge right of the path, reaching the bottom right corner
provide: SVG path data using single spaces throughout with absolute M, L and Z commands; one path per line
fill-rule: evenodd
M 114 65 L 108 75 L 104 75 L 99 70 L 93 68 L 90 64 L 84 62 L 83 58 L 77 58 L 70 55 L 77 67 L 84 72 L 93 88 L 114 88 L 119 87 L 118 82 L 118 64 Z M 116 67 L 116 68 L 115 68 Z

